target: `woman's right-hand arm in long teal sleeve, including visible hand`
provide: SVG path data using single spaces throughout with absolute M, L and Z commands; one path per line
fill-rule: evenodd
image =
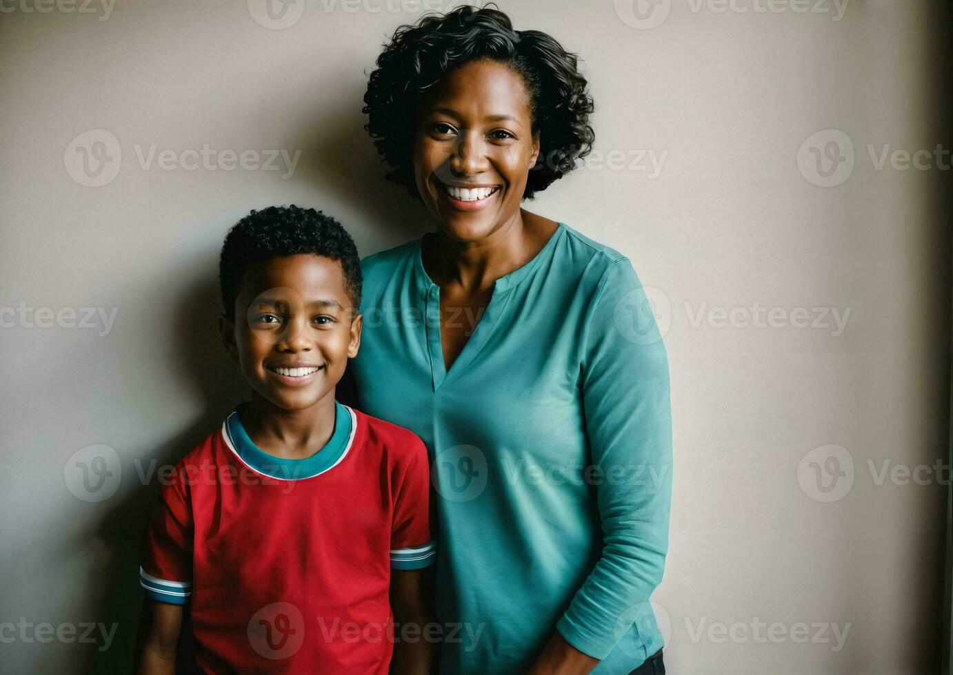
M 627 259 L 606 270 L 585 326 L 581 395 L 591 475 L 599 477 L 602 556 L 540 657 L 567 673 L 595 667 L 568 647 L 598 662 L 649 610 L 668 551 L 672 490 L 668 359 Z

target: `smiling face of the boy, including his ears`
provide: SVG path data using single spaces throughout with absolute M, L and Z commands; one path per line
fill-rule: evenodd
M 357 355 L 362 319 L 340 263 L 312 253 L 253 263 L 234 309 L 234 320 L 219 322 L 222 339 L 258 396 L 303 410 L 334 395 Z

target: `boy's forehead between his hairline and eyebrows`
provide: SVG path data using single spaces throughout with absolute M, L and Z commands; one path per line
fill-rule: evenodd
M 341 264 L 314 253 L 256 261 L 245 268 L 241 286 L 239 295 L 249 299 L 269 294 L 281 299 L 294 291 L 306 303 L 333 298 L 350 305 Z

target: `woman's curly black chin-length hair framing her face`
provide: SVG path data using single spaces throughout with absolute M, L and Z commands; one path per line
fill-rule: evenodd
M 539 30 L 513 30 L 510 17 L 491 6 L 469 5 L 421 18 L 398 28 L 371 72 L 364 129 L 375 139 L 389 180 L 419 197 L 414 180 L 416 109 L 423 92 L 447 72 L 476 59 L 491 59 L 519 72 L 530 94 L 539 155 L 530 169 L 523 197 L 546 189 L 592 149 L 589 126 L 593 100 L 578 71 L 576 54 L 562 49 Z

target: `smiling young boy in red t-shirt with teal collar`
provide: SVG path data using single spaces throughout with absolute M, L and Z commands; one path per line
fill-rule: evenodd
M 138 672 L 174 672 L 188 606 L 205 672 L 429 673 L 427 641 L 395 641 L 392 624 L 430 617 L 426 449 L 335 401 L 360 345 L 354 241 L 313 208 L 252 211 L 219 272 L 219 330 L 252 401 L 162 487 Z

